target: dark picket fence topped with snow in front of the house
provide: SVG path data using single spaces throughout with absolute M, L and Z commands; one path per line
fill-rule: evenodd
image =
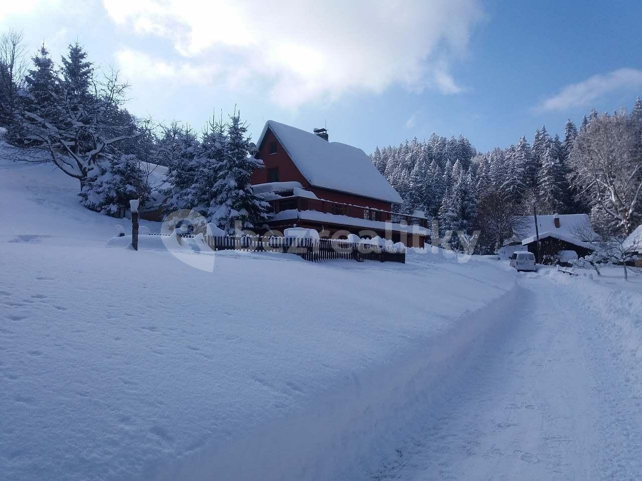
M 193 238 L 193 234 L 180 234 Z M 365 242 L 340 239 L 305 239 L 301 237 L 275 237 L 263 235 L 204 235 L 205 244 L 214 251 L 236 250 L 253 252 L 281 252 L 296 254 L 311 262 L 324 260 L 376 260 L 379 262 L 406 263 L 406 249 L 378 246 Z

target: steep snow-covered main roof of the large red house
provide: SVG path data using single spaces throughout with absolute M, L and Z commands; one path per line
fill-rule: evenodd
M 311 185 L 403 203 L 363 150 L 341 142 L 328 142 L 314 133 L 272 120 L 265 122 L 259 146 L 268 129 Z

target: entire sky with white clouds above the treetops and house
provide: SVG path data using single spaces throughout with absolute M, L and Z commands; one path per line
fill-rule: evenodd
M 0 27 L 76 39 L 132 85 L 128 108 L 200 128 L 236 105 L 370 152 L 414 136 L 485 151 L 642 95 L 642 2 L 23 0 Z

